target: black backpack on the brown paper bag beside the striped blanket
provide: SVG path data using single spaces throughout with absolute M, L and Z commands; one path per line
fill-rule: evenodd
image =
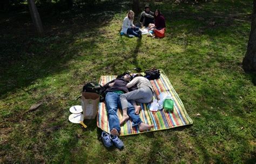
M 105 100 L 105 88 L 98 83 L 90 82 L 83 86 L 83 92 L 92 92 L 99 94 L 99 101 L 103 102 Z

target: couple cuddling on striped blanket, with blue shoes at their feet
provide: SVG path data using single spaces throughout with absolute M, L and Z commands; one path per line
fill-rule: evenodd
M 123 148 L 123 142 L 118 138 L 120 126 L 131 118 L 132 126 L 138 126 L 143 132 L 153 128 L 153 125 L 145 124 L 139 117 L 141 110 L 137 103 L 150 103 L 153 99 L 153 89 L 150 80 L 141 74 L 124 73 L 116 79 L 104 85 L 106 97 L 106 110 L 109 120 L 110 134 L 103 132 L 102 139 L 106 147 L 112 143 L 118 148 Z M 130 91 L 130 92 L 129 92 Z M 123 117 L 119 121 L 117 110 L 122 108 Z

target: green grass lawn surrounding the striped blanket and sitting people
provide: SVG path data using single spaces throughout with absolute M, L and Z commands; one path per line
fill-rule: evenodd
M 45 37 L 33 34 L 29 13 L 1 15 L 0 163 L 255 163 L 255 77 L 241 69 L 252 2 L 152 8 L 166 17 L 163 39 L 119 36 L 126 3 L 42 13 Z M 169 77 L 192 126 L 124 136 L 119 151 L 104 147 L 96 120 L 86 129 L 68 121 L 87 81 L 153 66 Z

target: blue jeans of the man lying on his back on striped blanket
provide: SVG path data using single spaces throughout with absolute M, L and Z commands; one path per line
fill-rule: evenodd
M 107 110 L 107 117 L 109 118 L 109 127 L 110 131 L 115 128 L 117 129 L 118 133 L 120 134 L 120 122 L 117 116 L 118 108 L 122 109 L 120 96 L 121 94 L 115 92 L 107 92 L 105 103 L 106 103 L 106 110 Z M 142 123 L 142 120 L 139 118 L 139 115 L 135 114 L 134 106 L 129 102 L 127 108 L 127 114 L 132 119 L 134 125 L 139 125 Z

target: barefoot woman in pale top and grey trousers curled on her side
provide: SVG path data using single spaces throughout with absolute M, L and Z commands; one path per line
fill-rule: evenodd
M 124 123 L 124 121 L 129 119 L 129 115 L 127 115 L 127 100 L 131 101 L 131 103 L 135 107 L 135 113 L 139 114 L 140 106 L 138 106 L 136 102 L 150 103 L 153 99 L 153 90 L 150 80 L 148 80 L 147 78 L 143 77 L 141 74 L 138 73 L 126 86 L 128 88 L 131 88 L 134 85 L 138 87 L 138 90 L 134 90 L 120 95 L 120 101 L 123 108 L 123 118 L 120 122 L 121 125 Z

